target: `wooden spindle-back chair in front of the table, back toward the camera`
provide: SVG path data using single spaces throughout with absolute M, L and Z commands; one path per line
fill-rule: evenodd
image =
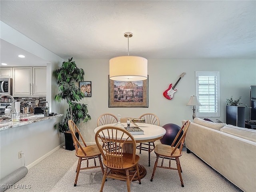
M 136 155 L 136 142 L 128 131 L 123 128 L 106 126 L 96 132 L 95 141 L 102 154 L 103 164 L 106 166 L 100 192 L 103 190 L 106 178 L 126 181 L 128 192 L 130 192 L 130 182 L 135 176 L 141 184 L 138 168 L 140 156 Z M 126 145 L 132 148 L 131 154 L 124 151 Z M 135 168 L 135 171 L 132 168 Z

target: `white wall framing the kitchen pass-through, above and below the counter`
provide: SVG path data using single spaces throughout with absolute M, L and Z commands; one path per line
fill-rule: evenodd
M 46 60 L 46 99 L 52 112 L 63 113 L 63 104 L 54 101 L 54 95 L 58 93 L 58 87 L 52 79 L 52 71 L 61 66 L 63 59 L 2 21 L 0 21 L 0 25 L 1 39 Z M 64 142 L 64 137 L 63 135 L 59 136 L 58 131 L 54 130 L 53 126 L 60 120 L 61 118 L 56 118 L 0 131 L 0 178 L 23 166 L 24 158 L 18 159 L 18 151 L 22 150 L 24 152 L 26 166 L 30 168 L 56 148 L 59 148 Z

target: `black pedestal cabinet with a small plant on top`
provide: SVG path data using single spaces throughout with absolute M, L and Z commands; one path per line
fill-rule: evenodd
M 245 106 L 226 106 L 226 124 L 244 127 Z

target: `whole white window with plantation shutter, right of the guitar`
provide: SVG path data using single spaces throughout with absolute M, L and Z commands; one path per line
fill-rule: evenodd
M 220 72 L 196 71 L 196 96 L 202 106 L 196 107 L 198 117 L 220 117 Z

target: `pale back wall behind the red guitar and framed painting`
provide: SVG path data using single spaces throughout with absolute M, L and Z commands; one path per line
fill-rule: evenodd
M 80 124 L 80 130 L 87 142 L 94 141 L 97 118 L 103 113 L 121 114 L 121 117 L 138 118 L 143 113 L 154 113 L 160 118 L 160 126 L 174 123 L 181 126 L 182 119 L 192 120 L 192 106 L 186 106 L 190 96 L 195 95 L 195 71 L 220 72 L 220 117 L 226 122 L 226 98 L 242 96 L 241 102 L 249 105 L 250 85 L 256 85 L 256 60 L 216 59 L 149 59 L 148 60 L 148 108 L 108 108 L 108 61 L 107 59 L 78 60 L 79 68 L 85 71 L 85 80 L 92 81 L 92 97 L 84 98 L 88 104 L 90 122 Z M 172 100 L 163 96 L 169 84 L 180 80 Z M 246 119 L 249 110 L 246 108 Z M 210 118 L 215 121 L 216 118 Z

